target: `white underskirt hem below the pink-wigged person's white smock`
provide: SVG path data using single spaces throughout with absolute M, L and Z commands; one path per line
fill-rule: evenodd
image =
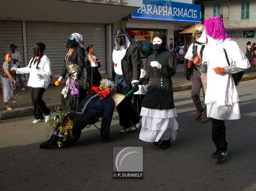
M 218 105 L 214 102 L 206 104 L 207 117 L 219 120 L 235 120 L 240 118 L 240 109 L 238 102 L 232 105 Z

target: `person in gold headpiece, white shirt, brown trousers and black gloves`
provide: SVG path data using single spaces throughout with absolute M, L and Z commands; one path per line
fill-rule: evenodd
M 193 63 L 193 59 L 201 54 L 203 56 L 203 50 L 205 46 L 205 42 L 201 40 L 202 32 L 204 31 L 204 27 L 202 24 L 198 24 L 194 27 L 192 32 L 192 36 L 194 37 L 194 43 L 192 43 L 188 51 L 185 55 L 185 58 L 188 60 L 187 74 L 186 78 L 190 81 L 190 75 L 193 70 L 193 80 L 192 80 L 192 89 L 191 89 L 191 97 L 196 107 L 196 120 L 200 120 L 201 123 L 206 123 L 208 121 L 207 113 L 206 113 L 206 104 L 204 106 L 200 100 L 200 90 L 203 90 L 203 96 L 205 97 L 206 88 L 207 88 L 207 74 L 201 73 L 196 65 Z

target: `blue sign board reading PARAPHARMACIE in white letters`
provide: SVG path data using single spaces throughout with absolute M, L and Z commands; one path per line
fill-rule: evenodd
M 134 19 L 177 22 L 201 22 L 200 5 L 172 1 L 143 0 L 143 5 L 132 13 Z

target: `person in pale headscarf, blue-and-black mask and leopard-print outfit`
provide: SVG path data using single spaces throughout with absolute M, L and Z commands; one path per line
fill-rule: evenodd
M 72 33 L 65 44 L 68 51 L 58 81 L 62 81 L 68 74 L 68 79 L 61 90 L 61 104 L 68 112 L 76 110 L 87 95 L 87 71 L 84 69 L 85 51 L 82 42 L 82 35 Z

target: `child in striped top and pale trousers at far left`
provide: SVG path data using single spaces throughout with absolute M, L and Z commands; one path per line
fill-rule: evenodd
M 13 87 L 17 86 L 17 81 L 11 75 L 11 63 L 12 63 L 12 55 L 11 53 L 4 54 L 4 64 L 2 66 L 2 71 L 0 75 L 0 79 L 2 81 L 2 89 L 3 89 L 3 100 L 5 102 L 4 108 L 7 110 L 12 110 L 9 106 L 9 100 L 13 103 L 16 101 L 12 98 L 13 96 Z M 13 81 L 13 85 L 12 85 Z

